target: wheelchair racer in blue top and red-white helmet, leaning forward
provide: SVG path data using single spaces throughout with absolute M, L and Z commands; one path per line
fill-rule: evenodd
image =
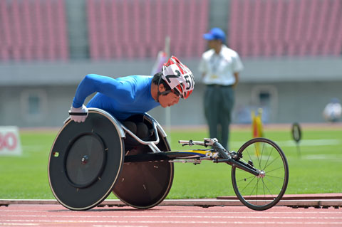
M 95 107 L 113 115 L 123 125 L 142 138 L 146 136 L 147 126 L 136 125 L 129 117 L 142 114 L 157 106 L 170 107 L 187 99 L 194 89 L 192 72 L 175 56 L 162 66 L 162 71 L 153 76 L 128 75 L 120 78 L 89 74 L 78 85 L 73 104 L 69 111 L 71 120 L 84 122 L 88 107 Z M 86 97 L 96 93 L 83 104 Z M 139 135 L 140 134 L 140 135 Z

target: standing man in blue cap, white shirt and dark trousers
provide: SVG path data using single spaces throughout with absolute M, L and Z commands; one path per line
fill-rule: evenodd
M 202 54 L 199 71 L 204 85 L 204 115 L 209 125 L 209 136 L 219 139 L 228 147 L 229 125 L 234 105 L 234 88 L 239 82 L 239 72 L 244 66 L 239 54 L 229 49 L 224 42 L 226 35 L 220 28 L 212 28 L 203 35 L 209 51 Z

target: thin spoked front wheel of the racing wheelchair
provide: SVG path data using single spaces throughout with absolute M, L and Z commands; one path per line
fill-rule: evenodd
M 284 152 L 269 139 L 254 138 L 237 152 L 239 162 L 259 170 L 259 176 L 232 167 L 232 184 L 242 204 L 263 211 L 276 205 L 289 181 L 289 167 Z

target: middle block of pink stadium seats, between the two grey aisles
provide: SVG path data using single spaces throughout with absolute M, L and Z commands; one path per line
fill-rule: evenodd
M 199 57 L 205 48 L 209 0 L 88 0 L 90 58 L 155 58 L 170 36 L 171 53 Z

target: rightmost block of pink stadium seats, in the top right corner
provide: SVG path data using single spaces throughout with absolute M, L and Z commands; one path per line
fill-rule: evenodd
M 340 0 L 232 0 L 229 46 L 244 57 L 340 56 Z

